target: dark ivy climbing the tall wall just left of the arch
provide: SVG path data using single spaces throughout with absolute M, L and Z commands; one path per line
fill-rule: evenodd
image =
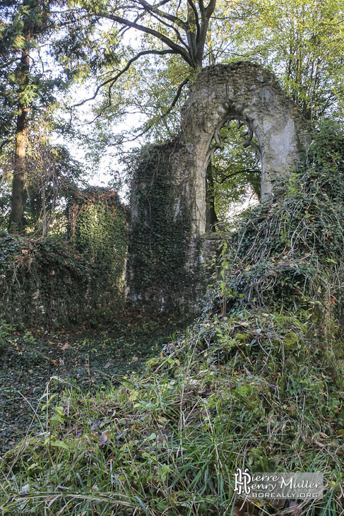
M 171 153 L 174 147 L 170 144 Z M 128 269 L 131 296 L 141 300 L 144 295 L 147 307 L 154 307 L 158 296 L 167 308 L 191 293 L 192 278 L 185 270 L 190 220 L 182 198 L 177 206 L 169 158 L 161 151 L 150 148 L 134 172 Z

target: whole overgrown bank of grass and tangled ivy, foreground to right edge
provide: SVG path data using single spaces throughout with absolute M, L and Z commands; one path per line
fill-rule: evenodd
M 146 373 L 93 397 L 66 383 L 58 405 L 47 384 L 40 435 L 1 463 L 3 514 L 343 515 L 343 204 L 326 129 L 242 216 L 202 317 Z M 243 503 L 237 467 L 321 471 L 324 498 Z

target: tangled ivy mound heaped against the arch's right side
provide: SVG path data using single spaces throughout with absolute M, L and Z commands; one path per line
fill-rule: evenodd
M 324 124 L 312 134 L 297 171 L 275 182 L 273 198 L 239 220 L 228 243 L 226 275 L 227 287 L 243 296 L 238 303 L 339 317 L 343 199 L 343 134 Z

